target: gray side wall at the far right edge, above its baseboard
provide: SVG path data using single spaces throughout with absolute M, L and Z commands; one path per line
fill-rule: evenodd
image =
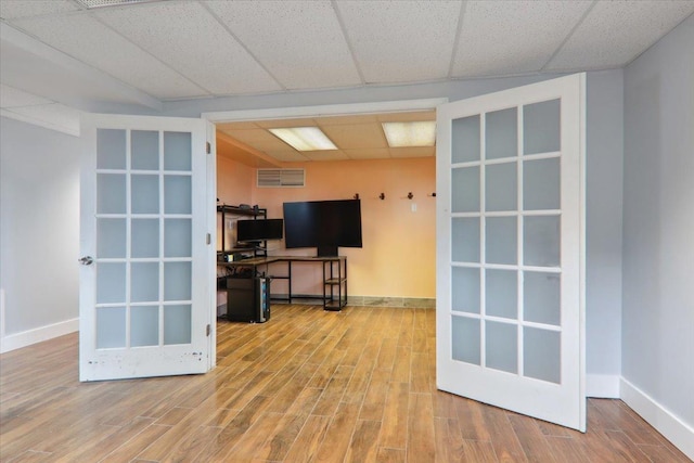
M 625 69 L 622 376 L 694 426 L 694 16 Z

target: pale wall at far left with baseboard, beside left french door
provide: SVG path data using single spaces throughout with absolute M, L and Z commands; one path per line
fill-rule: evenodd
M 77 330 L 79 139 L 0 118 L 2 351 Z

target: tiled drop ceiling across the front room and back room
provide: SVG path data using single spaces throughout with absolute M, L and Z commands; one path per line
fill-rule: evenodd
M 2 0 L 2 114 L 618 68 L 692 13 L 694 0 Z M 375 141 L 372 123 L 330 130 Z M 253 145 L 259 128 L 223 130 Z M 350 143 L 332 155 L 387 150 Z

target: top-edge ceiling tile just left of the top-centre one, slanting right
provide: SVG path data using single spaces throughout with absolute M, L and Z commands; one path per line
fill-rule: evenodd
M 206 4 L 286 89 L 361 83 L 330 1 Z

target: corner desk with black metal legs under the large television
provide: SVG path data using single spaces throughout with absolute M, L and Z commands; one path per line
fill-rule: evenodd
M 292 304 L 292 263 L 293 262 L 316 262 L 323 267 L 323 310 L 340 310 L 347 305 L 347 257 L 308 257 L 308 256 L 267 256 L 253 257 L 249 259 L 235 260 L 231 262 L 217 262 L 218 266 L 241 269 L 252 269 L 250 276 L 258 273 L 259 267 L 265 267 L 266 273 L 271 263 L 285 262 L 287 266 L 285 275 L 272 275 L 272 279 L 287 280 L 288 294 L 286 300 Z M 275 298 L 277 300 L 277 298 Z

